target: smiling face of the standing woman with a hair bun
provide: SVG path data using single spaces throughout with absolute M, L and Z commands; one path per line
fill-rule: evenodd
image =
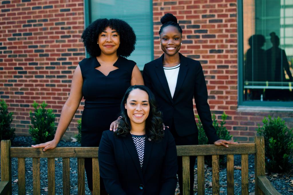
M 161 48 L 166 55 L 175 55 L 181 48 L 182 36 L 175 26 L 166 26 L 160 34 Z

